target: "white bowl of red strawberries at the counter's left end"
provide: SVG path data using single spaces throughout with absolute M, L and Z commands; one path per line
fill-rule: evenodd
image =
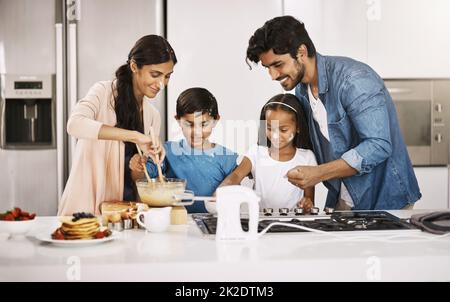
M 36 214 L 22 211 L 20 208 L 0 213 L 0 233 L 10 236 L 26 235 L 35 223 Z

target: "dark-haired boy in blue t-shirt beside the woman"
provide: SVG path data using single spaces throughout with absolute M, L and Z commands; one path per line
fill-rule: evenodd
M 204 88 L 190 88 L 177 99 L 175 119 L 184 139 L 164 144 L 166 177 L 187 180 L 186 188 L 195 195 L 211 196 L 224 178 L 236 167 L 237 154 L 209 141 L 212 130 L 220 119 L 216 98 Z M 133 157 L 130 168 L 134 178 L 143 178 L 142 160 Z M 158 175 L 154 161 L 147 162 L 150 177 Z M 187 206 L 189 213 L 206 213 L 203 201 Z

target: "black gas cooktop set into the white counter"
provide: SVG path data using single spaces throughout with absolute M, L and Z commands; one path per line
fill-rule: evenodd
M 211 214 L 193 214 L 192 218 L 205 234 L 215 234 L 217 217 Z M 334 212 L 331 215 L 314 216 L 303 215 L 289 218 L 267 218 L 260 216 L 258 232 L 273 222 L 288 222 L 321 231 L 384 231 L 411 230 L 413 225 L 385 211 L 346 211 Z M 248 218 L 241 218 L 244 231 L 248 231 Z M 305 230 L 287 226 L 275 225 L 269 233 L 307 232 Z

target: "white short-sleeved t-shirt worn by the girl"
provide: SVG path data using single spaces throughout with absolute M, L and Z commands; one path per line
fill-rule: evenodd
M 269 149 L 254 145 L 244 154 L 252 163 L 256 193 L 261 197 L 260 208 L 295 208 L 303 197 L 303 190 L 291 184 L 286 173 L 296 166 L 316 166 L 311 150 L 297 149 L 295 156 L 286 162 L 270 157 Z

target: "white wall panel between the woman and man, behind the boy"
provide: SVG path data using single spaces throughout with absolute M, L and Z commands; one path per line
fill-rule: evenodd
M 168 87 L 168 137 L 180 138 L 176 99 L 190 87 L 216 97 L 221 122 L 212 139 L 239 153 L 256 143 L 262 105 L 281 93 L 267 71 L 245 63 L 248 40 L 265 21 L 282 14 L 281 0 L 169 0 L 168 40 L 178 64 Z M 248 126 L 248 127 L 247 127 Z

